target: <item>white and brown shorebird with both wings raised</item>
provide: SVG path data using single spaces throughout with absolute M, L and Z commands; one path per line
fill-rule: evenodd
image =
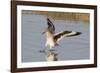
M 55 33 L 55 26 L 51 22 L 49 18 L 47 18 L 47 24 L 48 27 L 46 31 L 43 32 L 43 34 L 46 34 L 46 48 L 52 49 L 55 46 L 59 45 L 59 41 L 63 39 L 64 37 L 71 37 L 71 36 L 77 36 L 80 35 L 81 32 L 75 32 L 75 31 L 62 31 L 59 33 Z

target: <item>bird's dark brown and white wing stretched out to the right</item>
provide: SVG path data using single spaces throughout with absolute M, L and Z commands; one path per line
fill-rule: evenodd
M 64 37 L 71 37 L 71 36 L 77 36 L 80 35 L 81 32 L 74 32 L 74 31 L 63 31 L 58 34 L 55 34 L 54 39 L 55 41 L 59 42 Z

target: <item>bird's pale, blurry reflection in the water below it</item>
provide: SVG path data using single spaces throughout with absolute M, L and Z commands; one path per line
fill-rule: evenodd
M 58 53 L 55 50 L 41 50 L 40 53 L 44 53 L 45 60 L 50 61 L 58 61 Z

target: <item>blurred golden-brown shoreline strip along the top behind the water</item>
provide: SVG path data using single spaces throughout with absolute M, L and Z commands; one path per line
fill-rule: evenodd
M 83 21 L 89 23 L 90 14 L 89 13 L 72 13 L 72 12 L 48 12 L 48 11 L 29 11 L 23 10 L 22 14 L 36 14 L 36 15 L 46 15 L 54 20 L 73 20 L 73 21 Z

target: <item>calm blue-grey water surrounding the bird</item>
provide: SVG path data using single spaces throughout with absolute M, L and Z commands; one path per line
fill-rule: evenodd
M 46 61 L 45 54 L 39 50 L 45 48 L 45 36 L 42 32 L 47 28 L 47 16 L 22 14 L 22 62 Z M 63 30 L 82 32 L 79 36 L 64 38 L 55 47 L 58 60 L 82 60 L 90 58 L 90 25 L 83 21 L 50 20 L 56 32 Z

